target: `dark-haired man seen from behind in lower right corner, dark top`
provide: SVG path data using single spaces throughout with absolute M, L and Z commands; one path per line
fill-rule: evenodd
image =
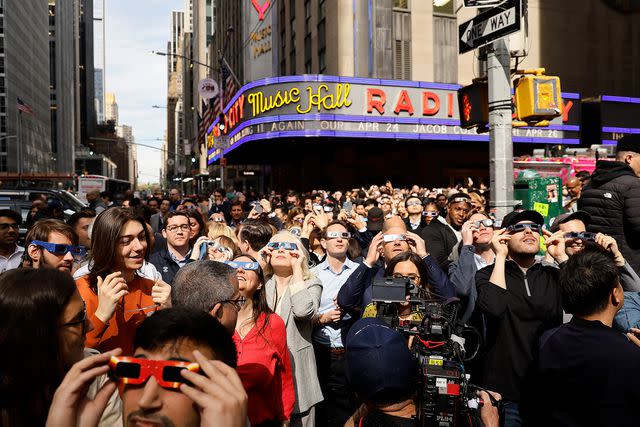
M 637 426 L 640 330 L 625 337 L 611 327 L 624 302 L 614 257 L 598 247 L 570 257 L 560 289 L 573 318 L 540 339 L 527 425 Z

